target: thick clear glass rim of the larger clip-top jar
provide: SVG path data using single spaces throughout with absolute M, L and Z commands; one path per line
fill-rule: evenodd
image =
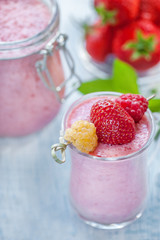
M 22 40 L 17 41 L 11 41 L 11 42 L 0 42 L 0 51 L 13 51 L 13 50 L 19 50 L 24 49 L 27 47 L 32 47 L 34 45 L 39 45 L 43 43 L 45 40 L 47 40 L 50 35 L 53 33 L 53 31 L 57 27 L 57 22 L 59 22 L 59 8 L 56 0 L 50 0 L 51 4 L 53 5 L 51 10 L 51 20 L 47 24 L 47 26 L 37 34 L 25 38 Z M 47 5 L 46 5 L 47 6 Z M 49 8 L 49 6 L 47 6 Z M 56 21 L 57 20 L 57 21 Z

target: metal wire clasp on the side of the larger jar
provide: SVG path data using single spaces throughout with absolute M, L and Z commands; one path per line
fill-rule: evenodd
M 43 58 L 41 60 L 38 60 L 35 64 L 37 73 L 44 83 L 45 87 L 53 91 L 56 95 L 56 98 L 59 102 L 64 102 L 64 100 L 71 95 L 82 83 L 80 77 L 75 73 L 75 63 L 74 60 L 69 52 L 69 50 L 66 48 L 66 41 L 68 39 L 68 36 L 66 34 L 58 33 L 46 46 L 44 49 L 40 51 L 40 54 L 43 55 Z M 53 55 L 55 51 L 61 50 L 64 56 L 65 63 L 67 64 L 70 74 L 69 77 L 65 79 L 63 83 L 61 83 L 59 86 L 55 86 L 54 79 L 52 79 L 52 76 L 48 70 L 47 67 L 47 57 L 50 55 Z M 74 78 L 74 81 L 73 81 Z M 66 94 L 66 96 L 61 97 L 60 92 L 65 87 L 65 85 L 69 82 L 72 82 L 71 90 Z

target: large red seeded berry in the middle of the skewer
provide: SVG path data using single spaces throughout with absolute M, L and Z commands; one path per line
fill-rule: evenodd
M 109 99 L 102 99 L 93 104 L 90 120 L 96 127 L 99 142 L 125 144 L 135 137 L 133 118 L 118 103 Z

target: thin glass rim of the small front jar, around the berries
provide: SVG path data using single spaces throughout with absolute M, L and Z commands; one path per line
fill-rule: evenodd
M 61 129 L 62 129 L 62 132 L 64 132 L 64 123 L 65 123 L 65 120 L 68 116 L 68 114 L 71 112 L 71 109 L 76 106 L 77 104 L 83 102 L 85 99 L 89 99 L 89 98 L 92 98 L 92 97 L 96 97 L 96 96 L 120 96 L 122 95 L 122 93 L 119 93 L 119 92 L 109 92 L 109 91 L 102 91 L 102 92 L 94 92 L 94 93 L 89 93 L 89 94 L 86 94 L 84 96 L 82 96 L 81 98 L 79 98 L 78 100 L 76 100 L 70 107 L 69 109 L 66 111 L 66 113 L 64 114 L 63 116 L 63 119 L 62 119 L 62 126 L 61 126 Z M 141 154 L 145 149 L 147 149 L 149 147 L 149 145 L 151 144 L 152 140 L 153 140 L 153 137 L 154 137 L 154 134 L 155 134 L 155 121 L 154 121 L 154 118 L 153 118 L 153 115 L 151 113 L 151 111 L 149 109 L 147 109 L 147 112 L 146 112 L 150 118 L 150 126 L 151 126 L 151 132 L 150 132 L 150 136 L 147 140 L 147 142 L 144 144 L 144 146 L 139 149 L 138 151 L 136 152 L 133 152 L 131 154 L 128 154 L 128 155 L 125 155 L 125 156 L 120 156 L 120 157 L 97 157 L 97 156 L 93 156 L 93 155 L 90 155 L 90 154 L 87 154 L 87 153 L 83 153 L 81 151 L 79 151 L 76 147 L 74 147 L 72 144 L 69 144 L 68 147 L 71 148 L 74 152 L 84 156 L 84 157 L 87 157 L 87 158 L 90 158 L 90 159 L 94 159 L 94 160 L 98 160 L 98 161 L 123 161 L 123 160 L 128 160 L 132 157 L 136 157 L 137 155 Z

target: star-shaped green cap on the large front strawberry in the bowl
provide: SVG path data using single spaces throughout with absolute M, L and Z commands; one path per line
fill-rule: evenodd
M 131 60 L 135 61 L 141 57 L 144 57 L 146 60 L 151 59 L 151 53 L 155 51 L 157 41 L 154 35 L 149 35 L 145 37 L 141 30 L 136 32 L 136 40 L 129 41 L 124 44 L 124 50 L 133 50 L 131 55 Z

